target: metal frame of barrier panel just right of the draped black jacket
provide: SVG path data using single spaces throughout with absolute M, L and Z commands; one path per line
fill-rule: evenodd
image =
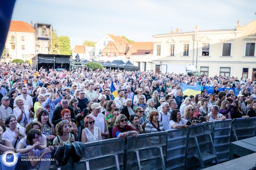
M 78 164 L 85 164 L 84 169 L 85 170 L 90 170 L 90 162 L 93 161 L 97 161 L 100 159 L 110 159 L 114 157 L 115 160 L 115 166 L 108 166 L 105 168 L 100 168 L 102 169 L 110 169 L 110 168 L 115 168 L 116 170 L 123 170 L 124 169 L 124 151 L 125 151 L 125 140 L 123 138 L 113 138 L 113 139 L 108 139 L 108 140 L 101 140 L 101 141 L 95 141 L 95 142 L 89 142 L 89 143 L 83 143 L 85 145 L 85 148 L 93 148 L 93 147 L 100 147 L 104 144 L 115 144 L 115 143 L 121 143 L 122 142 L 122 146 L 120 148 L 119 152 L 115 152 L 114 154 L 105 154 L 102 156 L 98 156 L 97 158 L 89 158 L 89 159 L 85 159 L 84 156 L 81 158 L 81 160 L 78 163 L 74 163 L 73 169 L 77 169 Z M 113 145 L 114 147 L 115 145 Z M 110 147 L 109 149 L 111 149 L 112 147 Z M 84 154 L 86 154 L 86 149 Z M 119 158 L 121 156 L 121 160 L 119 161 Z M 84 159 L 84 160 L 83 160 Z M 95 162 L 94 162 L 95 164 Z M 120 167 L 121 166 L 121 167 Z

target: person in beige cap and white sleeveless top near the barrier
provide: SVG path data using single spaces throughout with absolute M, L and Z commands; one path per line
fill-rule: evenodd
M 100 104 L 93 103 L 91 108 L 92 108 L 92 113 L 89 116 L 92 116 L 93 119 L 95 120 L 94 126 L 100 128 L 102 140 L 108 139 L 109 137 L 108 125 L 105 119 L 105 115 L 100 113 L 100 108 L 101 108 Z

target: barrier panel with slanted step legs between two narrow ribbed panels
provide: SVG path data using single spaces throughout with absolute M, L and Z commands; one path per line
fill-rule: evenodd
M 215 160 L 218 164 L 218 158 L 212 141 L 214 122 L 200 123 L 190 126 L 188 129 L 187 144 L 187 168 L 191 165 L 195 166 L 196 162 L 200 162 L 201 168 L 205 163 L 212 164 Z

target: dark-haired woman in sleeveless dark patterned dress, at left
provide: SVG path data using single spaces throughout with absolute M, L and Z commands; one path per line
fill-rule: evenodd
M 37 120 L 42 124 L 41 133 L 46 136 L 47 146 L 51 146 L 55 138 L 55 129 L 53 124 L 49 122 L 48 111 L 42 109 L 38 114 Z

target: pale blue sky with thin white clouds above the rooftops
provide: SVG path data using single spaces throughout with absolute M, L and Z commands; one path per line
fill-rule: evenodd
M 71 46 L 98 41 L 106 33 L 133 41 L 153 41 L 152 35 L 234 28 L 255 19 L 255 0 L 17 0 L 12 20 L 52 24 Z

